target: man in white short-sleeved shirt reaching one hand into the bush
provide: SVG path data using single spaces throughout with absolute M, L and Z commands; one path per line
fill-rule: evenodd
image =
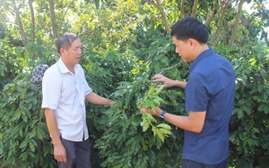
M 60 59 L 45 72 L 42 80 L 45 117 L 58 167 L 91 167 L 85 99 L 94 105 L 115 102 L 92 92 L 79 64 L 82 42 L 74 33 L 56 40 Z

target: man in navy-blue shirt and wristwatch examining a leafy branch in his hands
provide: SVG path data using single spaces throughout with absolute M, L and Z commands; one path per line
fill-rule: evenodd
M 208 30 L 193 17 L 179 20 L 171 30 L 176 53 L 191 63 L 187 82 L 170 80 L 157 74 L 152 82 L 166 88 L 186 90 L 188 116 L 167 113 L 156 108 L 152 113 L 185 130 L 183 168 L 224 168 L 229 155 L 229 123 L 235 96 L 235 73 L 230 62 L 207 45 Z

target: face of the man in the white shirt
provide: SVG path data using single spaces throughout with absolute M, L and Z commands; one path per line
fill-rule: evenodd
M 63 56 L 69 64 L 80 63 L 82 58 L 82 42 L 80 38 L 74 40 L 68 50 L 63 48 Z

